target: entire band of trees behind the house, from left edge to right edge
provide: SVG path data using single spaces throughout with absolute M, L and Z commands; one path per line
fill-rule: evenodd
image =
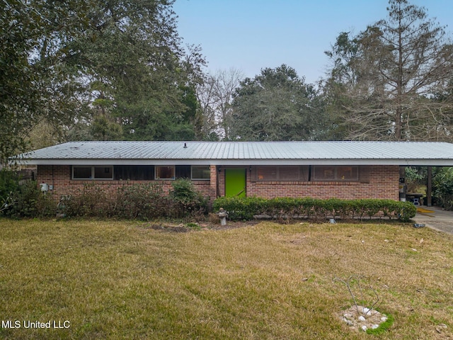
M 453 140 L 453 45 L 426 8 L 343 32 L 321 86 L 205 74 L 174 0 L 4 0 L 0 162 L 67 140 Z

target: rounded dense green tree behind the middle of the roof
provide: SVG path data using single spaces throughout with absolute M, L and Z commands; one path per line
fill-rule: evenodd
M 232 108 L 231 140 L 311 140 L 322 130 L 316 89 L 285 64 L 241 81 Z

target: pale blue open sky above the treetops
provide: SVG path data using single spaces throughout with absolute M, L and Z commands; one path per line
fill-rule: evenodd
M 452 0 L 410 0 L 448 26 Z M 207 70 L 241 70 L 254 77 L 265 67 L 293 67 L 314 83 L 323 77 L 329 50 L 341 32 L 359 33 L 386 18 L 387 0 L 176 0 L 178 33 L 200 45 Z

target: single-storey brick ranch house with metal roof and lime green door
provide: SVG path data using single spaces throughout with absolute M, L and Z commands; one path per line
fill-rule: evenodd
M 75 195 L 96 183 L 115 197 L 132 183 L 191 179 L 219 196 L 404 199 L 405 166 L 453 166 L 446 142 L 67 142 L 21 154 L 42 190 Z

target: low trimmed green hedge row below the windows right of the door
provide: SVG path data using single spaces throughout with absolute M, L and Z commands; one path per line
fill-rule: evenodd
M 342 220 L 364 218 L 398 218 L 403 222 L 411 220 L 417 208 L 410 202 L 396 200 L 340 200 L 330 198 L 272 198 L 220 197 L 214 200 L 214 211 L 220 208 L 228 211 L 231 220 L 253 220 L 257 215 L 274 219 L 308 218 L 326 220 L 339 217 Z

